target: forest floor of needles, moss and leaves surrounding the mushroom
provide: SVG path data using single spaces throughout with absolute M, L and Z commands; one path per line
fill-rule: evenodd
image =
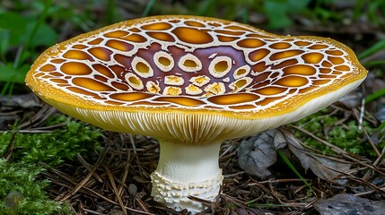
M 5 2 L 7 7 L 4 9 L 15 10 L 12 1 Z M 195 7 L 191 1 L 153 2 L 116 1 L 108 6 L 84 7 L 90 21 L 76 21 L 72 17 L 71 24 L 58 21 L 62 16 L 69 16 L 66 10 L 59 8 L 56 12 L 48 12 L 48 20 L 52 29 L 58 29 L 55 39 L 61 41 L 88 30 L 90 26 L 98 27 L 95 23 L 102 19 L 116 22 L 140 17 L 142 14 L 137 13 L 137 8 L 141 8 L 141 12 L 148 9 L 147 15 L 193 13 L 237 22 L 244 22 L 246 17 L 250 25 L 271 28 L 268 31 L 277 34 L 337 39 L 351 47 L 369 70 L 359 88 L 317 114 L 252 137 L 223 142 L 219 159 L 224 176 L 222 193 L 215 202 L 204 202 L 207 210 L 202 214 L 335 214 L 336 211 L 341 214 L 383 214 L 385 10 L 375 11 L 374 14 L 380 15 L 373 21 L 371 5 L 366 5 L 364 13 L 357 14 L 355 4 L 335 1 L 332 7 L 313 3 L 306 5 L 304 13 L 284 13 L 280 19 L 285 21 L 287 18 L 289 23 L 280 27 L 276 26 L 279 20 L 272 21 L 267 13 L 249 12 L 245 8 L 250 5 L 246 3 L 234 6 L 229 1 L 218 1 L 217 6 L 223 4 L 223 7 L 232 8 L 218 12 L 211 9 L 215 5 L 213 1 L 202 1 Z M 54 7 L 69 6 L 54 4 Z M 111 7 L 118 9 L 111 10 Z M 265 12 L 274 11 L 270 7 L 265 5 Z M 381 8 L 385 6 L 382 4 Z M 317 12 L 318 19 L 306 15 L 316 9 L 323 10 Z M 242 10 L 246 15 L 239 15 Z M 76 11 L 77 14 L 82 12 L 82 9 Z M 83 19 L 83 16 L 79 17 Z M 75 23 L 85 27 L 76 29 Z M 36 54 L 31 54 L 31 59 L 39 55 L 44 46 L 37 41 Z M 6 65 L 4 61 L 16 55 L 17 50 L 10 47 L 2 57 L 2 65 Z M 31 59 L 24 63 L 31 64 Z M 6 187 L 4 192 L 0 191 L 0 214 L 1 210 L 5 214 L 17 214 L 18 207 L 24 207 L 25 211 L 39 207 L 48 210 L 50 206 L 44 204 L 46 199 L 41 197 L 44 192 L 49 201 L 59 204 L 48 210 L 52 212 L 41 211 L 41 214 L 187 214 L 187 211 L 167 209 L 151 197 L 150 174 L 157 166 L 160 150 L 156 140 L 102 131 L 44 104 L 23 83 L 16 82 L 13 89 L 12 94 L 0 98 L 0 160 L 3 160 L 0 170 L 4 170 L 0 173 L 0 186 Z M 277 159 L 263 169 L 264 178 L 253 176 L 250 169 L 240 168 L 242 144 L 274 144 L 277 136 L 284 139 L 285 145 L 271 152 Z M 261 139 L 269 141 L 261 143 Z M 17 166 L 19 163 L 21 166 Z M 29 168 L 30 164 L 32 168 Z M 24 174 L 27 175 L 24 177 Z M 29 189 L 43 187 L 43 194 L 35 196 L 32 193 L 40 191 L 28 191 L 22 185 L 24 182 Z M 39 183 L 42 184 L 38 188 L 32 185 Z M 41 198 L 41 202 L 33 202 L 33 198 Z

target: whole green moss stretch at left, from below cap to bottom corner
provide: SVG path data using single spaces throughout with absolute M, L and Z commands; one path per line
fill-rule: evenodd
M 97 150 L 102 133 L 91 125 L 66 116 L 48 119 L 48 125 L 66 123 L 52 133 L 1 133 L 0 156 L 9 144 L 14 144 L 11 159 L 0 158 L 0 214 L 58 214 L 70 213 L 68 207 L 49 200 L 44 189 L 48 180 L 39 180 L 44 171 L 40 162 L 55 167 L 64 160 L 74 159 L 77 153 L 84 157 Z M 13 138 L 14 137 L 14 138 Z

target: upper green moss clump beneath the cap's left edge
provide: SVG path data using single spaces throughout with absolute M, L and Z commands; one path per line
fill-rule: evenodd
M 98 148 L 98 138 L 102 133 L 91 125 L 84 126 L 79 121 L 63 118 L 50 119 L 48 123 L 66 120 L 64 129 L 57 129 L 53 133 L 16 133 L 13 161 L 31 163 L 43 162 L 54 167 L 63 159 L 73 159 L 77 153 Z M 13 133 L 0 134 L 0 154 L 12 139 Z

